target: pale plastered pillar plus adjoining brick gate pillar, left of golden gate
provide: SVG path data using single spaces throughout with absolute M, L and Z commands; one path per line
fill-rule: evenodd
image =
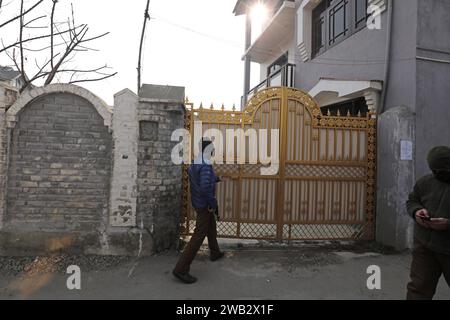
M 182 166 L 172 163 L 172 133 L 184 127 L 184 88 L 144 85 L 114 97 L 110 228 L 133 230 L 143 254 L 179 239 Z M 141 251 L 141 250 L 139 250 Z

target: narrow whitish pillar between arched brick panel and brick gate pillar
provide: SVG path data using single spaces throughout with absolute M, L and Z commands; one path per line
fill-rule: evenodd
M 138 103 L 137 95 L 128 89 L 114 96 L 111 227 L 136 226 Z

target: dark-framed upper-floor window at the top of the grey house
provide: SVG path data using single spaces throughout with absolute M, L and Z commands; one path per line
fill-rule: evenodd
M 366 26 L 368 0 L 323 0 L 312 12 L 313 58 Z

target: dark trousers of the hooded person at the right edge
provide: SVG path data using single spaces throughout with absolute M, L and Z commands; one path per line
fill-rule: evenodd
M 407 299 L 432 300 L 442 275 L 450 287 L 450 255 L 433 252 L 415 240 Z

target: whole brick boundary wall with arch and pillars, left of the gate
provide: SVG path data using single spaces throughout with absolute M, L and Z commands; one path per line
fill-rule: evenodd
M 8 110 L 14 99 L 0 94 L 0 255 L 177 246 L 182 168 L 171 135 L 184 126 L 184 88 L 148 88 L 122 90 L 114 108 L 73 85 L 34 88 Z

